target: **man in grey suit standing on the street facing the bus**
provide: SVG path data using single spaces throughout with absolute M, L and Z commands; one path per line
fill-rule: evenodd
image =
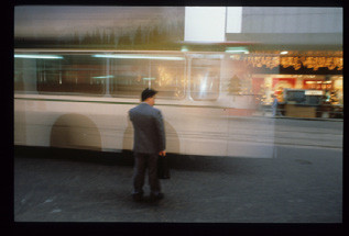
M 145 89 L 142 92 L 142 103 L 129 111 L 134 130 L 134 176 L 133 199 L 140 201 L 143 198 L 145 170 L 148 167 L 151 200 L 164 198 L 161 192 L 157 178 L 157 158 L 165 156 L 166 139 L 161 111 L 153 108 L 157 91 Z

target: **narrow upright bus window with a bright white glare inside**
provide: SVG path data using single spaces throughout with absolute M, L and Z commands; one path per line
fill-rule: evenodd
M 220 60 L 193 59 L 190 95 L 194 100 L 215 101 L 219 95 Z

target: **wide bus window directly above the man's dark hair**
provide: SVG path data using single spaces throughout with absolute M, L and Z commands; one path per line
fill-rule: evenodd
M 111 95 L 140 98 L 145 88 L 152 88 L 159 91 L 157 98 L 183 99 L 185 95 L 184 60 L 171 58 L 110 59 Z

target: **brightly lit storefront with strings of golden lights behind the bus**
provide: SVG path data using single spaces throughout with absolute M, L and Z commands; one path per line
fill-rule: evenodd
M 255 52 L 235 57 L 252 68 L 252 92 L 262 105 L 270 105 L 275 94 L 285 110 L 285 91 L 304 90 L 320 97 L 313 116 L 342 116 L 342 52 Z

